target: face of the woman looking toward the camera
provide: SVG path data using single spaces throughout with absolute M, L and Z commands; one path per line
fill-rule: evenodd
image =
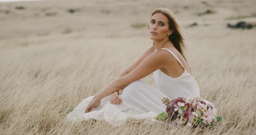
M 149 38 L 152 40 L 162 40 L 172 33 L 172 30 L 169 30 L 167 17 L 161 13 L 151 17 L 148 30 Z

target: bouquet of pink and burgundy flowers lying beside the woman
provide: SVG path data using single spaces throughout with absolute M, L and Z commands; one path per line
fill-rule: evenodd
M 212 127 L 215 123 L 222 120 L 216 116 L 217 109 L 212 104 L 207 104 L 200 97 L 190 98 L 178 97 L 174 100 L 163 98 L 161 100 L 166 106 L 166 112 L 158 114 L 154 119 L 161 122 L 170 122 L 181 119 L 189 127 L 205 128 Z

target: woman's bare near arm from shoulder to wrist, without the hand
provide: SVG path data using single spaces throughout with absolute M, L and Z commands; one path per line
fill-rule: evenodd
M 97 93 L 95 98 L 102 99 L 119 89 L 124 89 L 132 82 L 148 76 L 159 68 L 162 68 L 163 64 L 166 62 L 167 56 L 168 54 L 162 49 L 152 53 L 147 58 L 145 58 L 141 64 L 139 64 L 138 67 L 136 67 L 133 71 L 113 81 L 108 87 L 105 88 L 105 90 Z

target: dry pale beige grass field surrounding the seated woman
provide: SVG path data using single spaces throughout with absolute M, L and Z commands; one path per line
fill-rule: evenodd
M 218 12 L 219 8 L 209 18 L 201 18 L 192 13 L 198 13 L 198 8 L 203 11 L 227 3 L 211 2 L 205 8 L 200 1 L 186 2 L 170 4 L 179 11 L 189 6 L 177 14 L 182 26 L 195 20 L 209 23 L 184 29 L 184 36 L 187 59 L 201 96 L 213 102 L 223 117 L 215 129 L 192 131 L 187 127 L 129 120 L 120 127 L 93 119 L 65 122 L 63 118 L 82 99 L 107 87 L 152 45 L 146 27 L 133 29 L 131 25 L 147 24 L 151 11 L 163 5 L 116 2 L 116 6 L 91 1 L 87 4 L 94 8 L 90 8 L 81 7 L 81 3 L 49 1 L 1 5 L 11 12 L 0 15 L 0 134 L 255 134 L 256 29 L 227 29 L 224 20 L 238 16 L 230 14 L 233 8 L 246 12 L 255 9 L 249 7 L 255 4 L 229 4 L 230 12 L 226 14 Z M 16 11 L 15 6 L 24 9 Z M 135 10 L 128 12 L 128 7 Z M 70 14 L 66 12 L 69 8 L 79 11 Z M 124 12 L 117 12 L 121 9 Z M 111 12 L 105 14 L 101 10 Z M 58 13 L 49 17 L 46 12 Z M 216 17 L 223 20 L 217 22 Z M 152 74 L 142 80 L 154 86 Z

